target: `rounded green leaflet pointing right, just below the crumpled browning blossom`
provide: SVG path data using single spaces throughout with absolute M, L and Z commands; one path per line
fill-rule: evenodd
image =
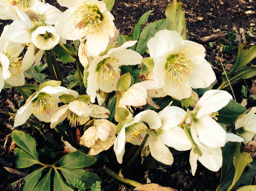
M 94 164 L 96 158 L 89 154 L 82 153 L 81 151 L 75 151 L 66 154 L 60 159 L 60 167 L 69 169 L 78 169 Z

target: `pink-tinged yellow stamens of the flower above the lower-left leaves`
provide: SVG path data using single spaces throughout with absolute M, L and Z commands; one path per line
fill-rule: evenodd
M 32 101 L 32 112 L 38 115 L 42 115 L 42 113 L 45 115 L 51 114 L 52 108 L 56 105 L 54 101 L 49 94 L 40 92 L 37 98 Z

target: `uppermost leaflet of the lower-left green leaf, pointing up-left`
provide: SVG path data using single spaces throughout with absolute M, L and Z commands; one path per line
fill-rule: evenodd
M 12 132 L 12 140 L 24 151 L 32 155 L 37 161 L 39 161 L 38 154 L 36 153 L 36 141 L 27 133 L 19 130 Z

